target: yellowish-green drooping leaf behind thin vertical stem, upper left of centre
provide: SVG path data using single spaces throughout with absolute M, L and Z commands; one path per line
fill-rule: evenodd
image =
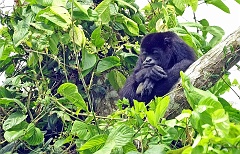
M 74 26 L 73 29 L 69 31 L 72 42 L 76 43 L 80 47 L 84 47 L 86 44 L 86 37 L 83 29 L 80 25 L 78 27 Z

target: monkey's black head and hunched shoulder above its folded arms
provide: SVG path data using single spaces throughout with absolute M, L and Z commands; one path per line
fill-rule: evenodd
M 146 35 L 141 43 L 140 59 L 143 67 L 158 65 L 169 69 L 183 59 L 195 60 L 195 55 L 180 37 L 173 32 Z

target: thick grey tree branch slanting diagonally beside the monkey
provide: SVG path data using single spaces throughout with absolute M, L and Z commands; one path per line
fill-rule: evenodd
M 208 53 L 194 62 L 186 74 L 190 77 L 192 84 L 201 89 L 213 86 L 224 74 L 237 62 L 240 61 L 240 27 L 230 34 L 225 40 L 212 48 Z M 171 102 L 166 118 L 174 118 L 183 109 L 190 108 L 179 81 L 170 93 Z

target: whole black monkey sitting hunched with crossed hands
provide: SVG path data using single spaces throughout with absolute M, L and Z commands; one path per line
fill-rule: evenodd
M 194 50 L 173 32 L 152 33 L 141 43 L 141 54 L 132 75 L 127 78 L 120 97 L 150 102 L 154 96 L 169 92 L 196 60 Z

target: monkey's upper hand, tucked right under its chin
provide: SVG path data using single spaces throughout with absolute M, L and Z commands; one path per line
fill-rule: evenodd
M 159 81 L 161 79 L 167 78 L 167 73 L 163 70 L 162 67 L 154 65 L 148 76 L 154 81 Z

